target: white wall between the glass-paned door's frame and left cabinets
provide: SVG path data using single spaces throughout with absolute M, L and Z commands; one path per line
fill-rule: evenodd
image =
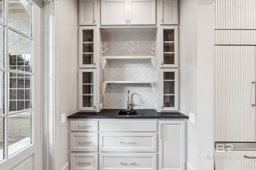
M 61 124 L 61 114 L 78 111 L 78 1 L 58 1 L 58 55 L 56 68 L 58 167 L 68 162 L 68 123 Z

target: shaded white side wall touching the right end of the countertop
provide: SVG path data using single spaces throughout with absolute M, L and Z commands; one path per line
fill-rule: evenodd
M 180 112 L 195 114 L 195 124 L 187 123 L 187 162 L 198 169 L 198 45 L 197 0 L 179 0 L 180 12 Z

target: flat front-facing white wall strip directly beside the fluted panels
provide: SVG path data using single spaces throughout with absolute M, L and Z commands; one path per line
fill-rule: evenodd
M 198 1 L 198 170 L 214 160 L 214 0 Z

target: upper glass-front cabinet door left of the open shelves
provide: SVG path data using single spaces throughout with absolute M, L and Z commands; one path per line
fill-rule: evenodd
M 79 27 L 79 68 L 96 68 L 96 29 Z

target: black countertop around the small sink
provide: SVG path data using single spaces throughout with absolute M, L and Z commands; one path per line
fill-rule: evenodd
M 180 112 L 157 112 L 154 109 L 136 109 L 138 115 L 118 115 L 120 109 L 103 109 L 100 112 L 77 112 L 71 118 L 90 118 L 90 119 L 188 119 L 188 116 Z M 121 109 L 124 110 L 124 109 Z

